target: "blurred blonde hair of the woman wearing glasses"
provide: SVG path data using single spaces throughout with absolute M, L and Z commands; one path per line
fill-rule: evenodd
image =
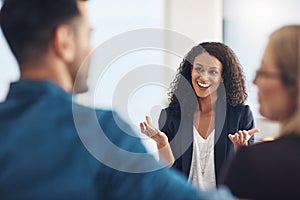
M 269 45 L 283 83 L 286 87 L 297 88 L 295 112 L 282 123 L 280 135 L 300 135 L 300 25 L 288 25 L 274 31 L 269 37 Z

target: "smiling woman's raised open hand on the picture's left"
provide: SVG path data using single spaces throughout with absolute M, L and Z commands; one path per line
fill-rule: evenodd
M 161 149 L 169 143 L 166 134 L 153 126 L 149 116 L 146 116 L 146 121 L 140 123 L 140 128 L 143 134 L 156 142 L 158 149 Z

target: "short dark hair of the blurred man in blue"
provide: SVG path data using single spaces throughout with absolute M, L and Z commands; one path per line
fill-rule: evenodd
M 19 63 L 41 55 L 54 31 L 80 16 L 78 0 L 4 0 L 0 25 Z

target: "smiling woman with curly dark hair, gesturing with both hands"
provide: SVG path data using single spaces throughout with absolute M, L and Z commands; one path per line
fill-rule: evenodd
M 169 95 L 170 104 L 160 114 L 160 130 L 146 117 L 141 131 L 156 141 L 160 158 L 168 165 L 196 186 L 214 188 L 226 159 L 239 145 L 252 143 L 257 132 L 252 129 L 250 108 L 244 105 L 247 93 L 237 57 L 218 42 L 193 47 L 181 62 Z

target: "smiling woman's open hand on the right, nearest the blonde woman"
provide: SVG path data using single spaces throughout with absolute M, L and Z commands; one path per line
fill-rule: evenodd
M 234 145 L 234 149 L 237 150 L 238 147 L 240 146 L 247 146 L 248 145 L 248 140 L 251 138 L 251 136 L 254 133 L 259 132 L 258 128 L 253 128 L 251 130 L 242 130 L 238 131 L 235 134 L 229 134 L 228 137 L 231 140 L 231 142 Z

